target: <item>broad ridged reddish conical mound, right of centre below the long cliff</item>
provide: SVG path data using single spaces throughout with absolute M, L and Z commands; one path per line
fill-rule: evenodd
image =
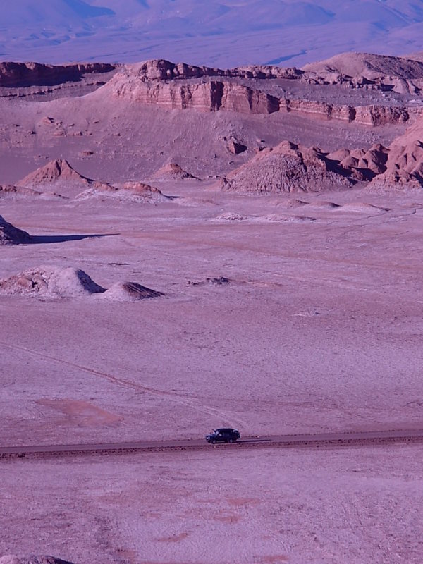
M 264 149 L 227 178 L 222 188 L 237 192 L 290 193 L 321 192 L 349 188 L 353 180 L 337 163 L 326 159 L 317 148 L 288 141 L 274 149 Z

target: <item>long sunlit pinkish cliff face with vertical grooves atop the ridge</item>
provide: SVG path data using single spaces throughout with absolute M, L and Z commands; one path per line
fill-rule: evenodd
M 266 85 L 255 78 L 302 80 L 297 69 L 252 67 L 221 71 L 216 68 L 174 65 L 168 61 L 147 61 L 127 66 L 111 79 L 107 87 L 114 97 L 140 104 L 155 104 L 166 109 L 228 110 L 241 114 L 273 114 L 282 111 L 312 118 L 356 121 L 365 125 L 404 123 L 410 113 L 403 106 L 369 104 L 329 104 L 318 99 L 287 97 L 280 88 L 266 92 Z M 301 71 L 300 71 L 301 72 Z M 251 78 L 245 84 L 245 78 Z M 237 81 L 243 78 L 244 81 Z M 269 87 L 268 87 L 269 90 Z

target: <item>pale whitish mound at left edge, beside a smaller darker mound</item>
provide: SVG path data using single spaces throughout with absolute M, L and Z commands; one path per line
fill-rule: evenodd
M 1 294 L 38 298 L 78 298 L 106 290 L 80 269 L 40 266 L 0 280 Z

